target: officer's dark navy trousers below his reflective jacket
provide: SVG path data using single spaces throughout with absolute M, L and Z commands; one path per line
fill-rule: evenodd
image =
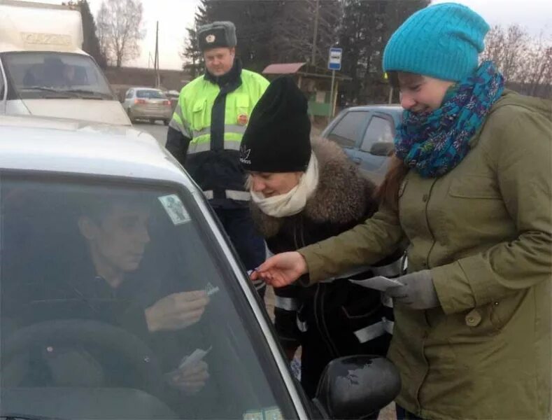
M 266 259 L 264 239 L 255 230 L 249 209 L 215 208 L 222 227 L 225 228 L 234 248 L 246 269 L 254 269 Z M 260 291 L 261 297 L 264 289 Z

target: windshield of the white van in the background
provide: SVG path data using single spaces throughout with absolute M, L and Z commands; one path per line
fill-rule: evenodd
M 21 99 L 86 97 L 113 99 L 91 57 L 63 52 L 7 52 L 2 55 L 9 85 Z

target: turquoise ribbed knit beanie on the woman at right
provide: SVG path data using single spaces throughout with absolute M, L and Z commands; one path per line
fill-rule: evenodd
M 489 25 L 474 10 L 441 3 L 418 10 L 392 34 L 383 71 L 408 71 L 458 81 L 478 66 Z

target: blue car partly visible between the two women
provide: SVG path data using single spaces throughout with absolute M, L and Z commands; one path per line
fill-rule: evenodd
M 363 173 L 381 183 L 402 111 L 399 105 L 353 106 L 341 111 L 321 136 L 339 144 Z

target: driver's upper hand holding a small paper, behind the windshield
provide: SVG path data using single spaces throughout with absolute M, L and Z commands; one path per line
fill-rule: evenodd
M 157 300 L 145 311 L 148 330 L 180 330 L 197 323 L 209 297 L 205 290 L 173 293 Z

